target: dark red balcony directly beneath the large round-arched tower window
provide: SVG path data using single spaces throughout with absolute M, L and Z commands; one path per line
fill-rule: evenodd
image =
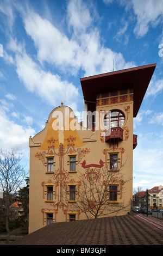
M 105 142 L 110 142 L 115 146 L 115 143 L 118 147 L 118 142 L 123 141 L 123 129 L 121 127 L 111 128 L 110 135 L 105 137 Z

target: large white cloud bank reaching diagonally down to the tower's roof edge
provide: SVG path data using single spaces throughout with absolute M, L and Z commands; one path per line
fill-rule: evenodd
M 61 71 L 73 75 L 82 69 L 84 76 L 112 71 L 113 59 L 115 70 L 135 66 L 133 62 L 126 63 L 121 53 L 102 45 L 100 31 L 91 26 L 93 17 L 90 15 L 89 5 L 82 1 L 70 1 L 68 4 L 67 23 L 72 28 L 69 38 L 33 10 L 28 10 L 23 20 L 27 34 L 34 41 L 41 64 L 54 64 Z

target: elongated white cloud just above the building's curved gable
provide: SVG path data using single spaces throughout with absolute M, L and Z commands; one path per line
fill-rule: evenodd
M 78 89 L 68 81 L 61 81 L 58 75 L 40 68 L 28 55 L 16 54 L 16 71 L 29 92 L 39 95 L 43 101 L 55 106 L 63 101 L 71 103 L 79 95 Z

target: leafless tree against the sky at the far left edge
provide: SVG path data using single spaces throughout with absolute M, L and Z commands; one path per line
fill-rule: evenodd
M 16 149 L 11 151 L 0 150 L 0 186 L 4 192 L 6 229 L 8 234 L 7 243 L 9 242 L 9 210 L 13 197 L 16 196 L 22 181 L 27 175 L 24 166 L 20 165 L 21 156 L 17 155 Z

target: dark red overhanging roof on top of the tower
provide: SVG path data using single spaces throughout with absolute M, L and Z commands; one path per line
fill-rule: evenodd
M 96 102 L 97 93 L 133 88 L 134 117 L 136 117 L 155 67 L 156 63 L 80 78 L 84 101 Z

